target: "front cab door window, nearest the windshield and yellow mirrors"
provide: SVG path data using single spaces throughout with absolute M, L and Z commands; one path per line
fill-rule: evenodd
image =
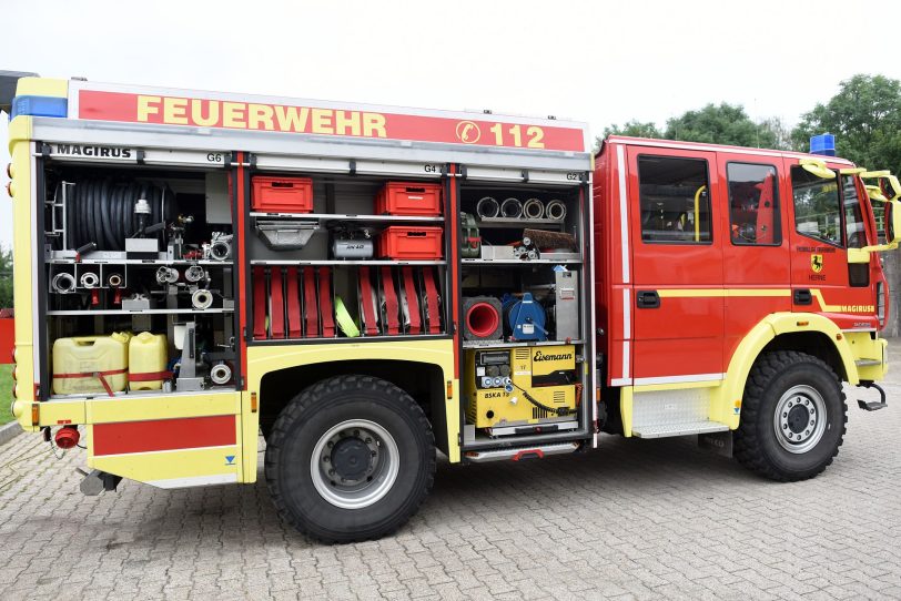
M 794 228 L 799 234 L 841 246 L 841 204 L 836 180 L 823 180 L 800 165 L 791 167 Z

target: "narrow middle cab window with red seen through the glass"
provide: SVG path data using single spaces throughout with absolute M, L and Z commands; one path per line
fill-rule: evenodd
M 732 244 L 782 244 L 776 167 L 729 163 L 729 230 Z

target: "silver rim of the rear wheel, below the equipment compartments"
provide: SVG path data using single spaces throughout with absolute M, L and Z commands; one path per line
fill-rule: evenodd
M 394 437 L 368 419 L 351 419 L 330 428 L 310 459 L 316 491 L 342 509 L 362 509 L 379 501 L 397 480 L 398 468 Z

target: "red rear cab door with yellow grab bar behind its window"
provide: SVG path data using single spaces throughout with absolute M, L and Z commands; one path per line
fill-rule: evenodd
M 722 241 L 711 152 L 630 146 L 635 384 L 721 379 Z

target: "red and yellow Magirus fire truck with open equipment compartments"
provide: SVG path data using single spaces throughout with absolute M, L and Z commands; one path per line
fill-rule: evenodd
M 794 481 L 839 450 L 843 383 L 885 406 L 901 191 L 828 147 L 594 153 L 554 118 L 0 90 L 12 412 L 84 449 L 87 495 L 263 477 L 287 523 L 354 541 L 417 510 L 438 451 L 697 436 Z

